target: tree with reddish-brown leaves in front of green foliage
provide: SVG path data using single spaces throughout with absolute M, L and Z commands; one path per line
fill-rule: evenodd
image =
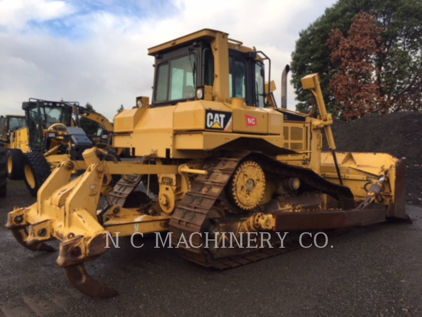
M 385 54 L 382 31 L 375 16 L 368 13 L 354 16 L 347 37 L 337 29 L 331 30 L 327 45 L 332 49 L 331 62 L 337 65 L 337 72 L 329 90 L 345 120 L 388 111 L 378 80 L 381 69 L 376 63 Z

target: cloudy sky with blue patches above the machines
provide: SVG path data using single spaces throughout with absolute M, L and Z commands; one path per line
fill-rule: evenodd
M 40 98 L 92 104 L 112 119 L 136 96 L 151 100 L 151 46 L 203 28 L 221 30 L 281 71 L 300 30 L 335 0 L 0 0 L 0 115 Z M 290 79 L 290 76 L 289 76 Z M 295 109 L 292 85 L 289 109 Z

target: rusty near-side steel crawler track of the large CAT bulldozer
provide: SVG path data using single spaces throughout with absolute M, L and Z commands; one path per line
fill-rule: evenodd
M 326 182 L 308 169 L 283 164 L 261 153 L 230 153 L 229 156 L 209 158 L 203 167 L 203 169 L 208 170 L 208 175 L 198 175 L 192 182 L 191 189 L 177 205 L 169 223 L 173 246 L 179 244 L 182 233 L 188 239 L 192 233 L 204 232 L 204 230 L 208 232 L 213 226 L 219 228 L 216 232 L 243 232 L 243 230 L 240 230 L 241 223 L 248 218 L 250 213 L 234 214 L 229 212 L 227 216 L 224 216 L 225 212 L 222 211 L 224 209 L 222 207 L 229 207 L 223 206 L 227 204 L 224 198 L 225 186 L 230 181 L 238 164 L 246 157 L 259 161 L 267 172 L 276 173 L 281 177 L 299 175 L 301 180 L 305 181 L 306 186 L 338 197 L 344 207 L 353 207 L 353 195 L 349 189 Z M 329 238 L 332 238 L 344 232 L 345 230 L 342 229 L 330 230 L 326 233 Z M 235 248 L 233 249 L 225 248 L 213 251 L 206 249 L 204 246 L 186 248 L 181 243 L 178 251 L 182 257 L 197 264 L 225 269 L 246 265 L 300 247 L 298 240 L 293 241 L 294 238 L 291 237 L 289 240 L 284 240 L 284 248 L 279 248 L 280 239 L 274 232 L 269 233 L 271 235 L 269 243 L 272 248 L 266 242 L 265 246 L 268 247 L 258 249 L 239 248 L 234 243 Z M 199 235 L 192 235 L 193 245 L 199 246 L 201 243 L 203 241 Z M 257 243 L 260 243 L 260 241 L 258 240 Z

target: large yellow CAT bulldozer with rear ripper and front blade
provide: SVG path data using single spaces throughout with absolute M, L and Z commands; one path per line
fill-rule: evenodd
M 114 145 L 136 160 L 100 161 L 87 149 L 83 175 L 70 180 L 72 163 L 62 161 L 34 205 L 8 213 L 6 227 L 24 247 L 52 251 L 46 242 L 60 240 L 57 264 L 84 294 L 117 295 L 84 268 L 110 250 L 109 235 L 171 232 L 182 257 L 223 269 L 277 254 L 269 246 L 221 248 L 223 232 L 238 240 L 268 232 L 277 246 L 280 231 L 410 221 L 403 161 L 335 152 L 318 74 L 302 79 L 314 104 L 303 114 L 277 107 L 270 58 L 227 33 L 200 30 L 148 53 L 155 57 L 151 103 L 138 97 L 114 118 Z M 123 176 L 113 187 L 115 175 Z M 193 247 L 180 244 L 184 237 Z

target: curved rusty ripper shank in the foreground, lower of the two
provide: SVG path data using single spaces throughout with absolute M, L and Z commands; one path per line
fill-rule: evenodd
M 79 292 L 82 292 L 87 296 L 110 298 L 119 295 L 114 288 L 89 276 L 85 270 L 84 263 L 66 266 L 64 269 L 70 283 L 72 283 Z

